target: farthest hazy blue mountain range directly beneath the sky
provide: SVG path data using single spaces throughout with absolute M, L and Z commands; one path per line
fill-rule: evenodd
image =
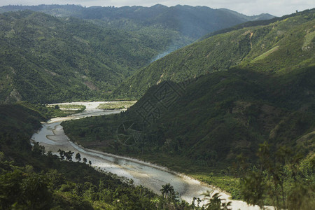
M 34 10 L 57 17 L 76 17 L 94 22 L 97 25 L 124 29 L 159 41 L 169 39 L 172 42 L 158 59 L 169 52 L 193 43 L 205 34 L 250 20 L 274 18 L 272 15 L 246 16 L 232 10 L 212 9 L 206 6 L 163 6 L 151 7 L 83 7 L 77 5 L 39 5 L 39 6 L 2 6 L 1 12 Z M 155 60 L 153 59 L 153 60 Z

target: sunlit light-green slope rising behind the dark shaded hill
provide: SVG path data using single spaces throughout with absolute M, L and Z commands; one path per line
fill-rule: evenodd
M 232 66 L 280 73 L 314 64 L 314 11 L 218 32 L 139 69 L 114 94 L 140 97 L 163 80 L 181 82 Z

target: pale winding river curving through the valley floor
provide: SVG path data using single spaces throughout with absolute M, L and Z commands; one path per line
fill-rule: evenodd
M 202 193 L 207 190 L 213 190 L 211 186 L 201 183 L 195 179 L 191 179 L 183 174 L 172 172 L 169 169 L 157 165 L 143 162 L 133 158 L 125 158 L 118 155 L 111 155 L 109 153 L 102 153 L 94 151 L 82 146 L 78 146 L 69 140 L 64 134 L 64 130 L 60 123 L 65 120 L 76 120 L 89 116 L 109 115 L 113 113 L 120 113 L 116 111 L 104 111 L 97 109 L 99 104 L 106 102 L 73 102 L 64 104 L 80 104 L 86 106 L 82 113 L 73 114 L 65 118 L 52 118 L 48 122 L 42 123 L 43 127 L 38 132 L 34 133 L 31 139 L 45 146 L 45 151 L 52 151 L 52 153 L 59 155 L 59 149 L 63 151 L 73 151 L 80 153 L 81 158 L 87 158 L 87 161 L 92 162 L 93 167 L 97 167 L 106 172 L 123 176 L 127 179 L 133 179 L 134 184 L 142 185 L 150 188 L 155 193 L 160 193 L 162 185 L 171 183 L 174 190 L 179 193 L 181 199 L 191 202 L 193 197 L 200 197 Z M 221 192 L 221 198 L 232 202 L 232 209 L 260 209 L 255 206 L 248 206 L 245 202 L 238 200 L 230 200 L 229 195 Z

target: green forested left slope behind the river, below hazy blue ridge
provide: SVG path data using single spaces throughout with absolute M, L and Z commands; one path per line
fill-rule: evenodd
M 102 97 L 169 45 L 31 11 L 3 13 L 0 21 L 1 103 Z

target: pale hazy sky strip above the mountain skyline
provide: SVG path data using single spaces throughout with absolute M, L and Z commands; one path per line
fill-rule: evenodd
M 177 4 L 190 6 L 209 6 L 210 8 L 229 8 L 245 15 L 270 13 L 281 16 L 315 7 L 315 0 L 0 0 L 5 5 L 38 4 L 80 4 L 82 6 L 153 6 L 161 3 L 165 6 Z

